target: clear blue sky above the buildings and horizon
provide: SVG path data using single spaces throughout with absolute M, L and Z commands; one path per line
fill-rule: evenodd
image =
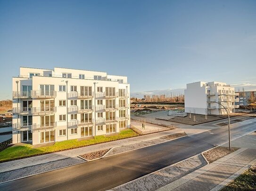
M 131 92 L 256 84 L 256 0 L 0 0 L 0 99 L 20 66 L 128 76 Z

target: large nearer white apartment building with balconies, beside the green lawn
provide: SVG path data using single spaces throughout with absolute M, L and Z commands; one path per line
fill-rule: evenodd
M 86 139 L 130 127 L 126 76 L 21 67 L 12 86 L 13 143 Z

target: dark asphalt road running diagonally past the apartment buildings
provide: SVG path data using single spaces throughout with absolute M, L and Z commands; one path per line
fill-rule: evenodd
M 196 128 L 196 127 L 195 127 Z M 121 153 L 72 167 L 0 184 L 2 191 L 97 191 L 108 190 L 169 166 L 227 141 L 228 128 Z M 256 130 L 256 120 L 232 125 L 231 139 Z

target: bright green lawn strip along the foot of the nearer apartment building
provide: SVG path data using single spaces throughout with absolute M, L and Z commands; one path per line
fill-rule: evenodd
M 33 148 L 33 145 L 25 144 L 22 146 L 12 146 L 0 152 L 0 162 L 5 160 L 12 160 L 20 157 L 27 157 L 30 155 L 57 152 L 65 149 L 72 149 L 76 147 L 82 147 L 86 145 L 92 145 L 96 143 L 102 143 L 112 140 L 117 140 L 121 138 L 130 138 L 137 136 L 133 130 L 123 130 L 120 131 L 118 135 L 113 135 L 109 137 L 105 136 L 95 136 L 93 139 L 78 141 L 77 139 L 67 140 L 62 142 L 56 142 L 51 146 L 44 146 L 39 148 Z

